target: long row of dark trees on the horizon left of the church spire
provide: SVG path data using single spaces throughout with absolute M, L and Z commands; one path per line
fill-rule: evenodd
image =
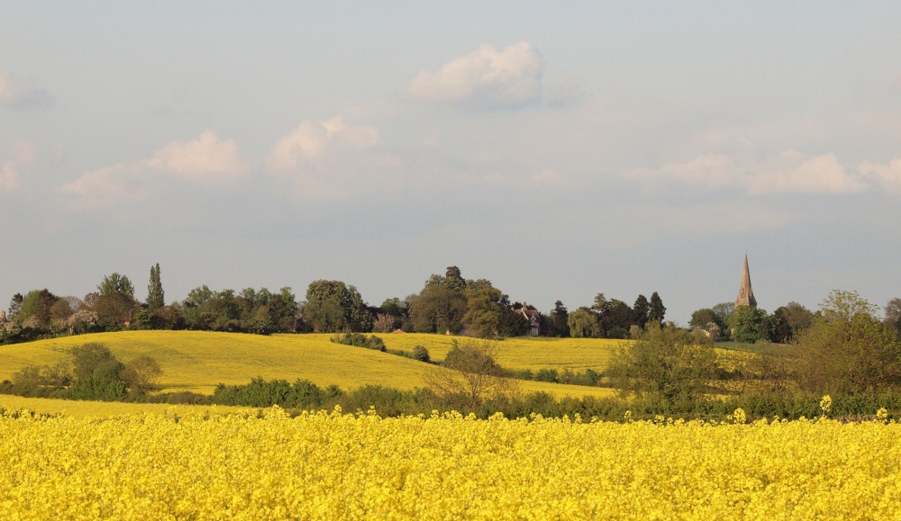
M 182 301 L 166 304 L 159 264 L 150 267 L 145 301 L 123 274 L 106 275 L 83 298 L 47 289 L 16 293 L 0 316 L 0 344 L 123 329 L 194 329 L 268 335 L 286 332 L 450 333 L 471 337 L 626 338 L 649 323 L 661 324 L 666 307 L 657 292 L 639 295 L 632 306 L 598 293 L 591 306 L 569 312 L 561 301 L 542 313 L 509 296 L 487 279 L 465 279 L 457 266 L 432 274 L 423 289 L 389 298 L 379 306 L 364 301 L 353 285 L 316 280 L 298 301 L 290 287 L 211 290 L 201 285 Z

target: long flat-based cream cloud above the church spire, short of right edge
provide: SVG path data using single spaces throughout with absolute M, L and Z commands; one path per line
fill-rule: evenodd
M 834 154 L 808 158 L 796 150 L 749 164 L 737 164 L 722 154 L 706 154 L 685 163 L 633 170 L 626 176 L 708 188 L 736 187 L 752 194 L 860 193 L 869 188 L 865 175 L 849 172 Z

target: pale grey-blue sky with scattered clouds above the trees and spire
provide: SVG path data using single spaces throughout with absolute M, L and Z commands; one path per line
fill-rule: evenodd
M 901 297 L 897 2 L 0 4 L 0 307 L 456 265 L 549 311 Z

